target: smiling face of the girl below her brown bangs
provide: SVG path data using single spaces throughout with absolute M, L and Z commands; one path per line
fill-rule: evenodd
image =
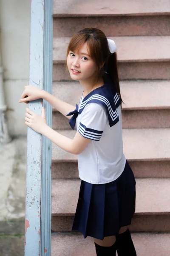
M 96 79 L 97 65 L 88 54 L 87 43 L 83 44 L 79 54 L 71 51 L 68 53 L 67 66 L 73 80 Z

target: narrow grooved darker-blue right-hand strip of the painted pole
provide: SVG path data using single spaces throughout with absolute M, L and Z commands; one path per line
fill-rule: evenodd
M 45 0 L 44 90 L 52 94 L 53 0 Z M 44 101 L 46 119 L 52 125 L 52 106 Z M 40 255 L 51 256 L 51 141 L 42 137 L 41 241 Z

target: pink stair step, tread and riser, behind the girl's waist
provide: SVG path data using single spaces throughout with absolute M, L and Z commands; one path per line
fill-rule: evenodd
M 74 138 L 76 131 L 57 130 Z M 170 129 L 123 129 L 124 153 L 135 177 L 170 177 Z M 52 178 L 78 178 L 78 155 L 52 143 Z

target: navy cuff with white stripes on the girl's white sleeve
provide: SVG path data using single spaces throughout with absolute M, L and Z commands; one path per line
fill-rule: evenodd
M 78 128 L 79 133 L 90 140 L 100 140 L 102 137 L 103 131 L 97 131 L 91 128 L 87 128 L 85 125 L 83 125 L 81 122 L 79 122 L 79 128 Z

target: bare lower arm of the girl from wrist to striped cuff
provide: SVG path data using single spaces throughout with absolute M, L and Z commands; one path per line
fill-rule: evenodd
M 71 154 L 80 154 L 91 141 L 82 137 L 78 131 L 72 140 L 62 134 L 59 134 L 57 131 L 54 131 L 48 125 L 45 126 L 41 133 L 57 146 L 59 146 L 59 148 L 62 148 Z

